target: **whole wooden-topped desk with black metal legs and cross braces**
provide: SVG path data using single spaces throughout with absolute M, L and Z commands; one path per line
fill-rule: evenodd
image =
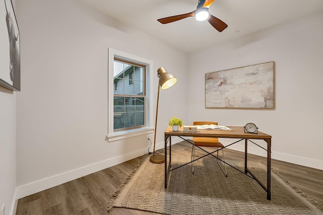
M 172 167 L 172 136 L 178 136 L 180 138 L 182 138 L 183 136 L 186 137 L 218 137 L 218 138 L 236 138 L 236 139 L 240 139 L 234 143 L 231 143 L 227 146 L 225 146 L 224 148 L 233 145 L 237 142 L 240 142 L 242 140 L 245 140 L 245 160 L 244 160 L 244 172 L 242 172 L 241 170 L 238 170 L 237 168 L 231 166 L 230 164 L 226 163 L 227 165 L 233 167 L 234 169 L 238 170 L 239 172 L 247 175 L 248 173 L 251 175 L 251 178 L 253 178 L 254 180 L 256 180 L 258 182 L 258 184 L 267 192 L 267 199 L 270 200 L 271 199 L 271 145 L 272 145 L 272 136 L 259 132 L 258 134 L 250 134 L 250 133 L 244 133 L 244 128 L 243 127 L 235 127 L 235 126 L 227 126 L 228 128 L 232 129 L 231 131 L 227 131 L 227 130 L 197 130 L 197 133 L 193 133 L 193 132 L 183 132 L 183 128 L 180 128 L 179 131 L 177 132 L 173 132 L 171 127 L 168 127 L 165 131 L 165 188 L 167 188 L 167 181 L 168 181 L 168 177 L 169 177 L 169 172 L 175 170 L 175 169 L 170 169 Z M 183 140 L 193 144 L 193 142 L 190 142 L 184 138 L 182 138 Z M 261 139 L 264 140 L 267 143 L 267 149 L 259 146 L 258 144 L 254 143 L 253 141 L 251 141 L 251 139 Z M 167 143 L 168 140 L 170 142 L 170 162 L 169 165 L 167 166 Z M 261 147 L 262 149 L 267 151 L 267 186 L 265 187 L 248 169 L 247 166 L 247 158 L 248 158 L 248 152 L 247 152 L 247 143 L 248 141 L 256 144 L 257 146 Z M 223 148 L 220 148 L 218 150 L 222 150 Z M 203 150 L 203 149 L 202 149 Z M 215 157 L 215 155 L 213 155 L 212 153 L 217 152 L 218 150 L 212 151 L 212 152 L 207 152 L 206 155 L 212 155 Z M 205 151 L 205 150 L 204 150 Z M 206 152 L 206 151 L 205 151 Z M 204 157 L 202 156 L 202 157 Z M 202 157 L 199 157 L 197 159 L 200 159 Z M 197 160 L 195 159 L 195 160 Z M 219 158 L 220 159 L 220 158 Z M 193 160 L 193 161 L 195 161 Z M 221 159 L 220 159 L 221 160 Z M 222 160 L 222 162 L 224 162 Z M 192 162 L 189 162 L 187 164 L 190 164 Z M 182 166 L 185 166 L 187 164 L 184 164 Z M 180 167 L 182 167 L 180 166 Z M 178 167 L 178 168 L 180 168 Z M 176 168 L 177 169 L 177 168 Z M 230 177 L 230 176 L 229 176 Z M 250 176 L 249 176 L 250 177 Z

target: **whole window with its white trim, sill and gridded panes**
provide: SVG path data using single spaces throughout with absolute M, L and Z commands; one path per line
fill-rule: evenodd
M 152 62 L 112 48 L 108 61 L 108 141 L 152 133 Z

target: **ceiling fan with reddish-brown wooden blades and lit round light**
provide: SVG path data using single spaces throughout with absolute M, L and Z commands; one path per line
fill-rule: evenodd
M 193 17 L 195 16 L 195 19 L 197 21 L 204 21 L 207 19 L 207 21 L 218 31 L 222 32 L 224 29 L 228 27 L 226 23 L 224 23 L 222 20 L 218 19 L 217 17 L 212 16 L 209 14 L 208 9 L 212 5 L 214 0 L 199 0 L 197 3 L 196 10 L 187 13 L 187 14 L 181 14 L 171 17 L 165 17 L 161 19 L 157 19 L 158 22 L 161 24 L 167 24 L 171 22 L 175 22 L 187 17 Z

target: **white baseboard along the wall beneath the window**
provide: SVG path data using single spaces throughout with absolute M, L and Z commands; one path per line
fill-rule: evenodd
M 31 194 L 46 190 L 51 187 L 55 187 L 57 185 L 75 180 L 77 178 L 95 173 L 97 171 L 100 171 L 109 167 L 113 167 L 115 165 L 126 162 L 127 160 L 144 155 L 146 153 L 147 153 L 147 148 L 142 148 L 128 154 L 123 154 L 118 157 L 113 157 L 110 159 L 103 160 L 102 162 L 98 162 L 66 173 L 62 173 L 56 176 L 52 176 L 46 179 L 42 179 L 39 181 L 35 181 L 29 184 L 19 186 L 16 188 L 17 190 L 16 199 L 29 196 Z

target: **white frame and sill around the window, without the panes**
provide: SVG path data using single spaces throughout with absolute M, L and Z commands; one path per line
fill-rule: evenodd
M 145 101 L 145 120 L 146 126 L 122 131 L 114 131 L 114 60 L 115 58 L 140 64 L 146 67 L 146 101 Z M 144 58 L 140 58 L 129 53 L 108 48 L 108 64 L 107 64 L 107 141 L 122 140 L 129 137 L 152 133 L 153 128 L 153 62 Z

